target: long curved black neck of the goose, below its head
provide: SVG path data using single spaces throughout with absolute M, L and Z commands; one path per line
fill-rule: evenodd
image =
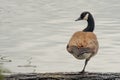
M 88 22 L 88 26 L 83 31 L 84 32 L 93 32 L 95 23 L 94 23 L 94 19 L 93 19 L 92 15 L 89 15 L 87 22 Z

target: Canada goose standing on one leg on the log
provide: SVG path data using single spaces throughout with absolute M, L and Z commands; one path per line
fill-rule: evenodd
M 73 34 L 67 45 L 67 51 L 77 59 L 85 59 L 85 64 L 81 71 L 81 73 L 84 73 L 88 61 L 97 53 L 99 45 L 97 37 L 93 33 L 95 24 L 92 14 L 87 11 L 83 12 L 75 21 L 79 20 L 86 20 L 88 25 L 82 31 L 77 31 Z

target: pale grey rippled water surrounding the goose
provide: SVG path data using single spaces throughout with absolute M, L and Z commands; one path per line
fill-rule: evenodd
M 0 55 L 11 72 L 81 71 L 84 61 L 66 51 L 83 11 L 95 18 L 100 48 L 87 71 L 120 72 L 119 0 L 0 0 Z

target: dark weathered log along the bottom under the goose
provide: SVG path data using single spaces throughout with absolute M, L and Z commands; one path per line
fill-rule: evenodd
M 5 80 L 120 80 L 120 73 L 59 72 L 59 73 L 29 73 L 5 76 Z

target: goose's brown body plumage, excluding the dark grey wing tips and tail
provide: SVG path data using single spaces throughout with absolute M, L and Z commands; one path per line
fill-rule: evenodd
M 92 51 L 90 52 L 89 58 L 94 56 L 98 51 L 98 41 L 96 35 L 93 32 L 78 31 L 74 33 L 68 43 L 68 47 L 67 47 L 68 52 L 70 53 L 72 52 L 73 46 L 76 46 L 78 49 L 82 49 L 82 48 L 91 49 Z M 75 54 L 73 55 L 75 56 Z M 86 58 L 88 57 L 84 57 L 84 59 Z

